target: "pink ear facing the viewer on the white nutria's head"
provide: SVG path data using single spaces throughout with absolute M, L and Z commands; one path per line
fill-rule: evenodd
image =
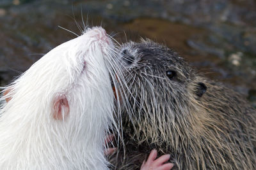
M 53 118 L 63 120 L 69 113 L 69 105 L 66 96 L 57 97 L 53 104 Z

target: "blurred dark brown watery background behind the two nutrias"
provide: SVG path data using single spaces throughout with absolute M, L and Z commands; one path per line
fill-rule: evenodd
M 256 0 L 0 0 L 0 85 L 81 34 L 83 20 L 120 43 L 150 38 L 256 107 Z

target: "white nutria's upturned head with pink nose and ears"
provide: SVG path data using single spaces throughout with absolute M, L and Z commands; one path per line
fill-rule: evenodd
M 77 121 L 86 116 L 83 113 L 92 115 L 91 110 L 111 112 L 108 61 L 113 48 L 101 27 L 87 29 L 83 35 L 57 46 L 6 88 L 8 110 L 39 120 L 71 117 Z M 33 115 L 19 113 L 28 110 Z

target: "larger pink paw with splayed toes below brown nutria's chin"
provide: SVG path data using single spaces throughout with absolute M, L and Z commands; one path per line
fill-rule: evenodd
M 147 161 L 143 161 L 140 170 L 170 170 L 174 166 L 172 163 L 165 163 L 170 159 L 170 155 L 163 155 L 157 158 L 157 151 L 152 150 Z

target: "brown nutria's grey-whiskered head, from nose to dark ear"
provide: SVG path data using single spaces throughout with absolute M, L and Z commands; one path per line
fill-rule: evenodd
M 166 136 L 166 129 L 172 131 L 188 125 L 193 117 L 190 113 L 195 109 L 193 103 L 200 100 L 207 87 L 178 53 L 143 40 L 124 44 L 119 58 L 129 87 L 125 94 L 129 97 L 132 117 L 127 117 L 131 118 L 127 122 L 133 124 L 134 131 L 141 129 L 157 140 L 161 134 Z M 140 138 L 141 132 L 136 133 Z

